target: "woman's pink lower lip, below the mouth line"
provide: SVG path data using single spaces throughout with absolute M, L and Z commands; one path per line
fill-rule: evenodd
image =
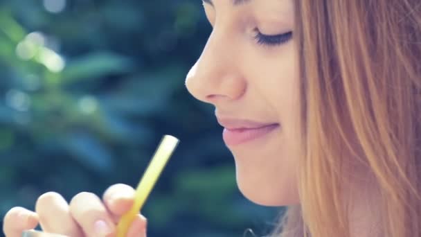
M 226 146 L 236 146 L 241 143 L 246 143 L 254 139 L 259 139 L 265 137 L 270 132 L 276 130 L 279 127 L 279 124 L 267 125 L 261 128 L 242 128 L 242 129 L 224 129 L 222 132 L 222 137 Z

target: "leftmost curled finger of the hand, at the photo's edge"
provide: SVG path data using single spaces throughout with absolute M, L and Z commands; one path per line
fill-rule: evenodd
M 7 237 L 21 237 L 22 231 L 34 229 L 37 225 L 37 213 L 23 207 L 13 207 L 4 216 L 3 232 Z

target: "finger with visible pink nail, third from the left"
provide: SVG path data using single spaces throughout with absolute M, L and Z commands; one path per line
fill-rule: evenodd
M 104 204 L 93 193 L 78 193 L 70 202 L 70 212 L 85 236 L 113 236 L 116 227 Z

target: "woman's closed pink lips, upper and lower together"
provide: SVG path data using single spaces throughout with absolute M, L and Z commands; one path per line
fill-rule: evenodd
M 217 121 L 224 127 L 222 137 L 226 146 L 236 146 L 260 139 L 280 126 L 279 123 L 261 123 L 247 119 L 217 118 Z

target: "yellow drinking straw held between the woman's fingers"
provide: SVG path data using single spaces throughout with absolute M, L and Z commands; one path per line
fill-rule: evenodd
M 152 191 L 156 180 L 161 174 L 165 164 L 167 164 L 168 159 L 172 155 L 172 152 L 175 150 L 178 143 L 179 139 L 170 135 L 165 135 L 161 140 L 154 157 L 152 157 L 149 166 L 147 166 L 147 169 L 136 188 L 132 209 L 127 211 L 127 213 L 125 213 L 118 222 L 117 237 L 125 237 L 127 235 L 130 225 L 132 224 L 134 218 L 136 218 L 139 211 L 141 211 L 147 196 L 150 194 L 150 191 Z

